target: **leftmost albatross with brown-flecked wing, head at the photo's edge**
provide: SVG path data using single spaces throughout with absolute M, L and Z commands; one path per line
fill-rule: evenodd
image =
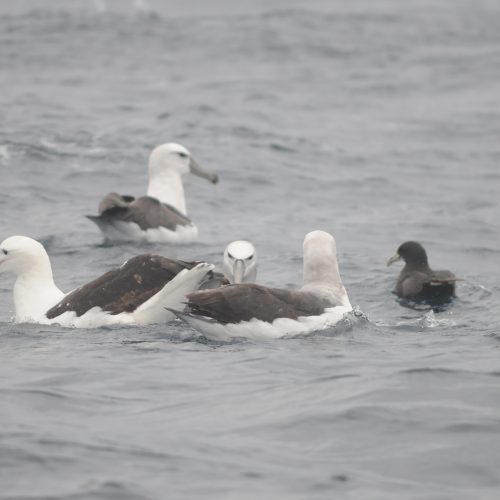
M 184 262 L 159 255 L 133 257 L 120 268 L 64 294 L 54 283 L 45 248 L 26 236 L 0 243 L 0 273 L 17 275 L 14 305 L 18 323 L 57 323 L 97 328 L 111 324 L 170 321 L 187 293 L 212 273 L 204 262 Z

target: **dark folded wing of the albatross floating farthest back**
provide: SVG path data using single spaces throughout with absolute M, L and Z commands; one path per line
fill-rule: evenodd
M 99 204 L 99 215 L 88 215 L 90 220 L 112 224 L 115 221 L 135 222 L 142 230 L 189 226 L 191 221 L 177 209 L 151 196 L 134 198 L 118 193 L 107 194 Z

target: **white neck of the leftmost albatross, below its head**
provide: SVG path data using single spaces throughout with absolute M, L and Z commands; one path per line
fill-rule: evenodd
M 14 285 L 16 321 L 38 320 L 64 294 L 56 287 L 47 256 L 19 274 Z

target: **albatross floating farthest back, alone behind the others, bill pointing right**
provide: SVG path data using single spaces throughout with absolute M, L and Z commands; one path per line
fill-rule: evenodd
M 99 215 L 87 215 L 106 241 L 189 243 L 198 228 L 187 217 L 181 176 L 191 172 L 213 184 L 217 175 L 205 172 L 180 144 L 157 146 L 149 157 L 147 196 L 107 194 Z

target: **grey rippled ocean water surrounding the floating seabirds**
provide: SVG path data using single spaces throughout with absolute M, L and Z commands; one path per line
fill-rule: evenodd
M 0 498 L 500 498 L 500 4 L 0 1 L 0 240 L 41 240 L 65 291 L 144 252 L 300 286 L 337 239 L 364 314 L 215 343 L 183 324 L 16 325 L 0 275 Z M 191 245 L 103 246 L 102 195 L 186 145 Z M 402 307 L 407 239 L 462 278 Z

